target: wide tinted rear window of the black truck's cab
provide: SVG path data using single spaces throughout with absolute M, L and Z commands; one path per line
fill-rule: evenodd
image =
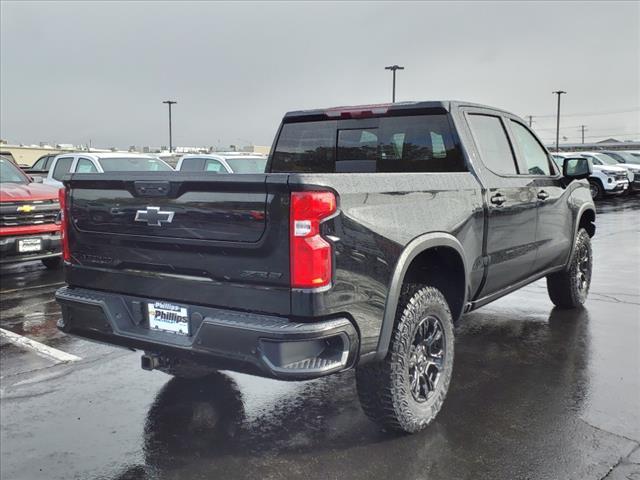
M 448 115 L 285 123 L 272 172 L 465 172 Z

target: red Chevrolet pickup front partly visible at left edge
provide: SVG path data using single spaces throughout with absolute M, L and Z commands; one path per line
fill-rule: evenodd
M 58 190 L 34 183 L 0 157 L 0 264 L 41 260 L 61 265 Z

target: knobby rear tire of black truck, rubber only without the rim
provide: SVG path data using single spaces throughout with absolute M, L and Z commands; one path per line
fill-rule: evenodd
M 432 317 L 442 327 L 443 368 L 430 397 L 419 402 L 411 390 L 410 351 L 418 326 Z M 386 430 L 414 433 L 424 429 L 440 411 L 449 390 L 453 355 L 453 318 L 444 295 L 434 287 L 405 285 L 386 358 L 356 371 L 364 413 Z

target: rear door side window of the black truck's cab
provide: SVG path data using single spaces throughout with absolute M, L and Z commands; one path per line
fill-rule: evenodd
M 482 163 L 499 175 L 518 173 L 516 159 L 500 117 L 493 115 L 469 115 L 469 126 Z

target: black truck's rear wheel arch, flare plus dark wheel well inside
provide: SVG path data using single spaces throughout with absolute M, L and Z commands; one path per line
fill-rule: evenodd
M 376 360 L 382 360 L 389 349 L 405 279 L 414 279 L 417 283 L 420 283 L 419 280 L 429 280 L 428 275 L 421 276 L 427 266 L 451 267 L 447 275 L 438 275 L 437 278 L 445 286 L 443 294 L 452 310 L 453 319 L 456 320 L 462 314 L 468 297 L 468 268 L 462 244 L 446 232 L 427 233 L 413 239 L 402 251 L 389 284 Z M 433 274 L 434 271 L 429 270 L 428 273 Z

